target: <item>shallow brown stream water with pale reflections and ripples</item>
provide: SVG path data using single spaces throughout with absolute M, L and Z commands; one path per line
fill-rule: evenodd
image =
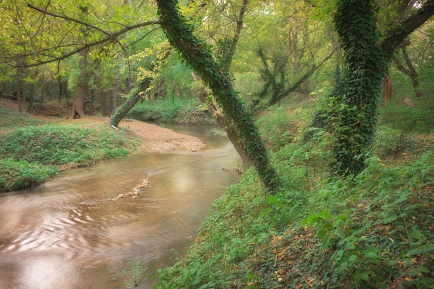
M 146 281 L 191 244 L 211 202 L 236 182 L 238 157 L 223 131 L 174 128 L 207 148 L 132 155 L 68 170 L 31 190 L 0 195 L 0 288 L 125 288 L 128 261 Z M 116 198 L 149 179 L 136 198 Z

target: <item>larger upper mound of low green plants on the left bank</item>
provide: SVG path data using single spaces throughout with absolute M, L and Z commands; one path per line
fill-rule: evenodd
M 87 164 L 109 157 L 107 153 L 127 155 L 123 146 L 125 140 L 110 128 L 30 126 L 3 134 L 0 155 L 38 164 Z

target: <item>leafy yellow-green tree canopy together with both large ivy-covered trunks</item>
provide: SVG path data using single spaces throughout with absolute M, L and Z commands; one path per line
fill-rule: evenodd
M 72 118 L 96 110 L 113 116 L 116 106 L 128 111 L 141 98 L 182 91 L 189 94 L 182 98 L 197 98 L 184 89 L 198 81 L 192 69 L 216 100 L 205 103 L 223 109 L 221 123 L 234 128 L 271 189 L 277 175 L 249 110 L 330 88 L 313 126 L 334 135 L 332 172 L 357 174 L 372 145 L 392 60 L 419 96 L 412 61 L 419 67 L 432 61 L 433 0 L 16 0 L 2 1 L 0 11 L 1 96 L 27 100 L 31 111 L 35 100 L 58 94 L 72 106 Z M 165 38 L 181 57 L 158 48 Z M 125 113 L 116 112 L 118 122 Z

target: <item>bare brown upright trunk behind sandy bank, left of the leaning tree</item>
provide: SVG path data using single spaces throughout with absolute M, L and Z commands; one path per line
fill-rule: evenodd
M 80 75 L 77 80 L 76 92 L 74 93 L 74 98 L 72 102 L 72 112 L 71 119 L 84 119 L 85 118 L 85 96 L 87 93 L 87 78 L 89 73 L 87 73 L 87 49 L 80 52 Z

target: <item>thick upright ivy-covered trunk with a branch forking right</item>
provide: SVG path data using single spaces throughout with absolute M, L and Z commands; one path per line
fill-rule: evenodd
M 357 175 L 363 170 L 374 138 L 383 78 L 392 55 L 404 38 L 433 13 L 434 0 L 428 0 L 380 41 L 374 1 L 338 1 L 334 20 L 345 51 L 345 71 L 312 125 L 334 132 L 332 173 Z

